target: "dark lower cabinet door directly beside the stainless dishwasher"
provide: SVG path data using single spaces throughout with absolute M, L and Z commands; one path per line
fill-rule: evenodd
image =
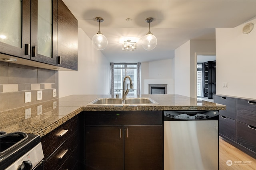
M 163 169 L 163 126 L 124 126 L 124 169 Z

